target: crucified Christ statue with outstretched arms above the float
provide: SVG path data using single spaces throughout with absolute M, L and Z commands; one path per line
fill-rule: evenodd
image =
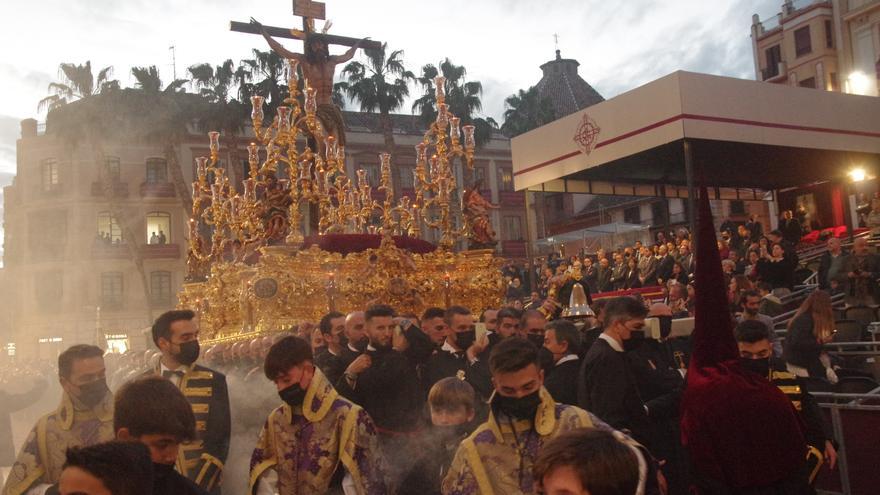
M 309 86 L 315 89 L 318 103 L 317 115 L 321 124 L 328 133 L 336 138 L 336 142 L 344 146 L 345 127 L 342 121 L 342 112 L 339 111 L 339 107 L 333 104 L 333 74 L 336 72 L 336 66 L 351 60 L 361 43 L 369 38 L 358 41 L 342 55 L 330 55 L 327 42 L 321 38 L 321 35 L 306 33 L 303 43 L 305 53 L 296 53 L 284 48 L 281 43 L 269 36 L 263 25 L 253 17 L 251 24 L 260 28 L 263 38 L 266 38 L 275 53 L 282 58 L 299 62 L 303 77 L 308 80 Z

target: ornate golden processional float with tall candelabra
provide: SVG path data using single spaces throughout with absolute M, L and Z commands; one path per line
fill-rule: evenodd
M 208 134 L 210 157 L 196 159 L 179 305 L 199 314 L 205 340 L 251 339 L 377 302 L 415 314 L 498 307 L 504 282 L 491 249 L 491 205 L 477 187 L 457 199 L 454 168 L 473 169 L 474 127 L 449 112 L 443 78 L 435 81 L 437 119 L 416 146 L 414 197 L 396 201 L 391 156 L 380 155 L 375 192 L 364 170 L 349 178 L 345 148 L 325 131 L 314 89 L 305 81 L 297 90 L 295 60 L 288 79 L 290 96 L 270 125 L 263 98 L 251 98 L 255 142 L 241 192 L 218 166 L 219 133 Z M 304 211 L 316 217 L 317 236 L 304 237 Z M 421 239 L 429 230 L 439 233 L 437 246 Z M 474 249 L 457 252 L 460 240 Z

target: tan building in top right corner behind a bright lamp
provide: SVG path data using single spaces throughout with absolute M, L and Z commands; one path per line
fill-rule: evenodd
M 787 0 L 751 37 L 759 81 L 878 96 L 880 0 Z

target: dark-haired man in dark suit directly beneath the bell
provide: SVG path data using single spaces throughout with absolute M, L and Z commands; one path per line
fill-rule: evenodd
M 553 355 L 553 367 L 547 372 L 544 388 L 556 402 L 576 406 L 581 368 L 580 332 L 568 320 L 551 321 L 544 332 L 544 347 Z

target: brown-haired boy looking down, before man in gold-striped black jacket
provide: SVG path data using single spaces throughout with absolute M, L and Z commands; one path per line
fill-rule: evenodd
M 155 495 L 207 494 L 174 470 L 183 442 L 198 438 L 192 407 L 177 387 L 158 376 L 144 376 L 123 385 L 114 405 L 116 438 L 141 442 L 150 449 Z M 220 471 L 214 476 L 219 481 Z

